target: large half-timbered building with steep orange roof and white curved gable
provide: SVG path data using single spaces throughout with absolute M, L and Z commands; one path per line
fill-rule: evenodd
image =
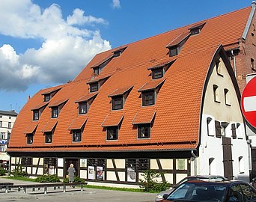
M 11 168 L 65 177 L 72 162 L 88 182 L 126 185 L 147 169 L 169 183 L 249 180 L 240 91 L 255 71 L 255 43 L 253 3 L 96 55 L 73 82 L 24 105 Z

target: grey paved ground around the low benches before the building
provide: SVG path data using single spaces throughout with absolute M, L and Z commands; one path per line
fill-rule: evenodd
M 0 183 L 10 182 L 15 184 L 28 184 L 34 182 L 25 182 L 19 180 L 9 180 L 6 178 L 0 178 Z M 56 192 L 52 191 L 46 195 L 43 192 L 31 192 L 24 194 L 22 192 L 9 192 L 4 193 L 0 191 L 0 201 L 43 201 L 43 202 L 67 202 L 67 201 L 126 201 L 126 202 L 153 202 L 156 194 L 141 193 L 141 192 L 122 192 L 104 189 L 85 189 L 81 192 L 79 189 L 73 190 L 72 188 L 67 188 L 67 192 Z

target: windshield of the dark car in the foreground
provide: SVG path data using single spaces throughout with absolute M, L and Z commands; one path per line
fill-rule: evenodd
M 225 185 L 204 183 L 183 183 L 171 195 L 168 201 L 219 201 L 225 195 Z

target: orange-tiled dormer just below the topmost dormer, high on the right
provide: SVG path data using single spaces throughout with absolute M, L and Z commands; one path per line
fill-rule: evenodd
M 169 49 L 169 56 L 178 55 L 180 50 L 182 49 L 186 40 L 188 40 L 190 36 L 190 32 L 185 32 L 177 36 L 171 43 L 168 43 L 166 48 Z

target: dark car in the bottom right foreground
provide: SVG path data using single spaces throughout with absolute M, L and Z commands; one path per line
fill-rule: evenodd
M 256 189 L 244 181 L 189 180 L 180 184 L 170 195 L 164 195 L 162 202 L 168 201 L 256 201 Z

